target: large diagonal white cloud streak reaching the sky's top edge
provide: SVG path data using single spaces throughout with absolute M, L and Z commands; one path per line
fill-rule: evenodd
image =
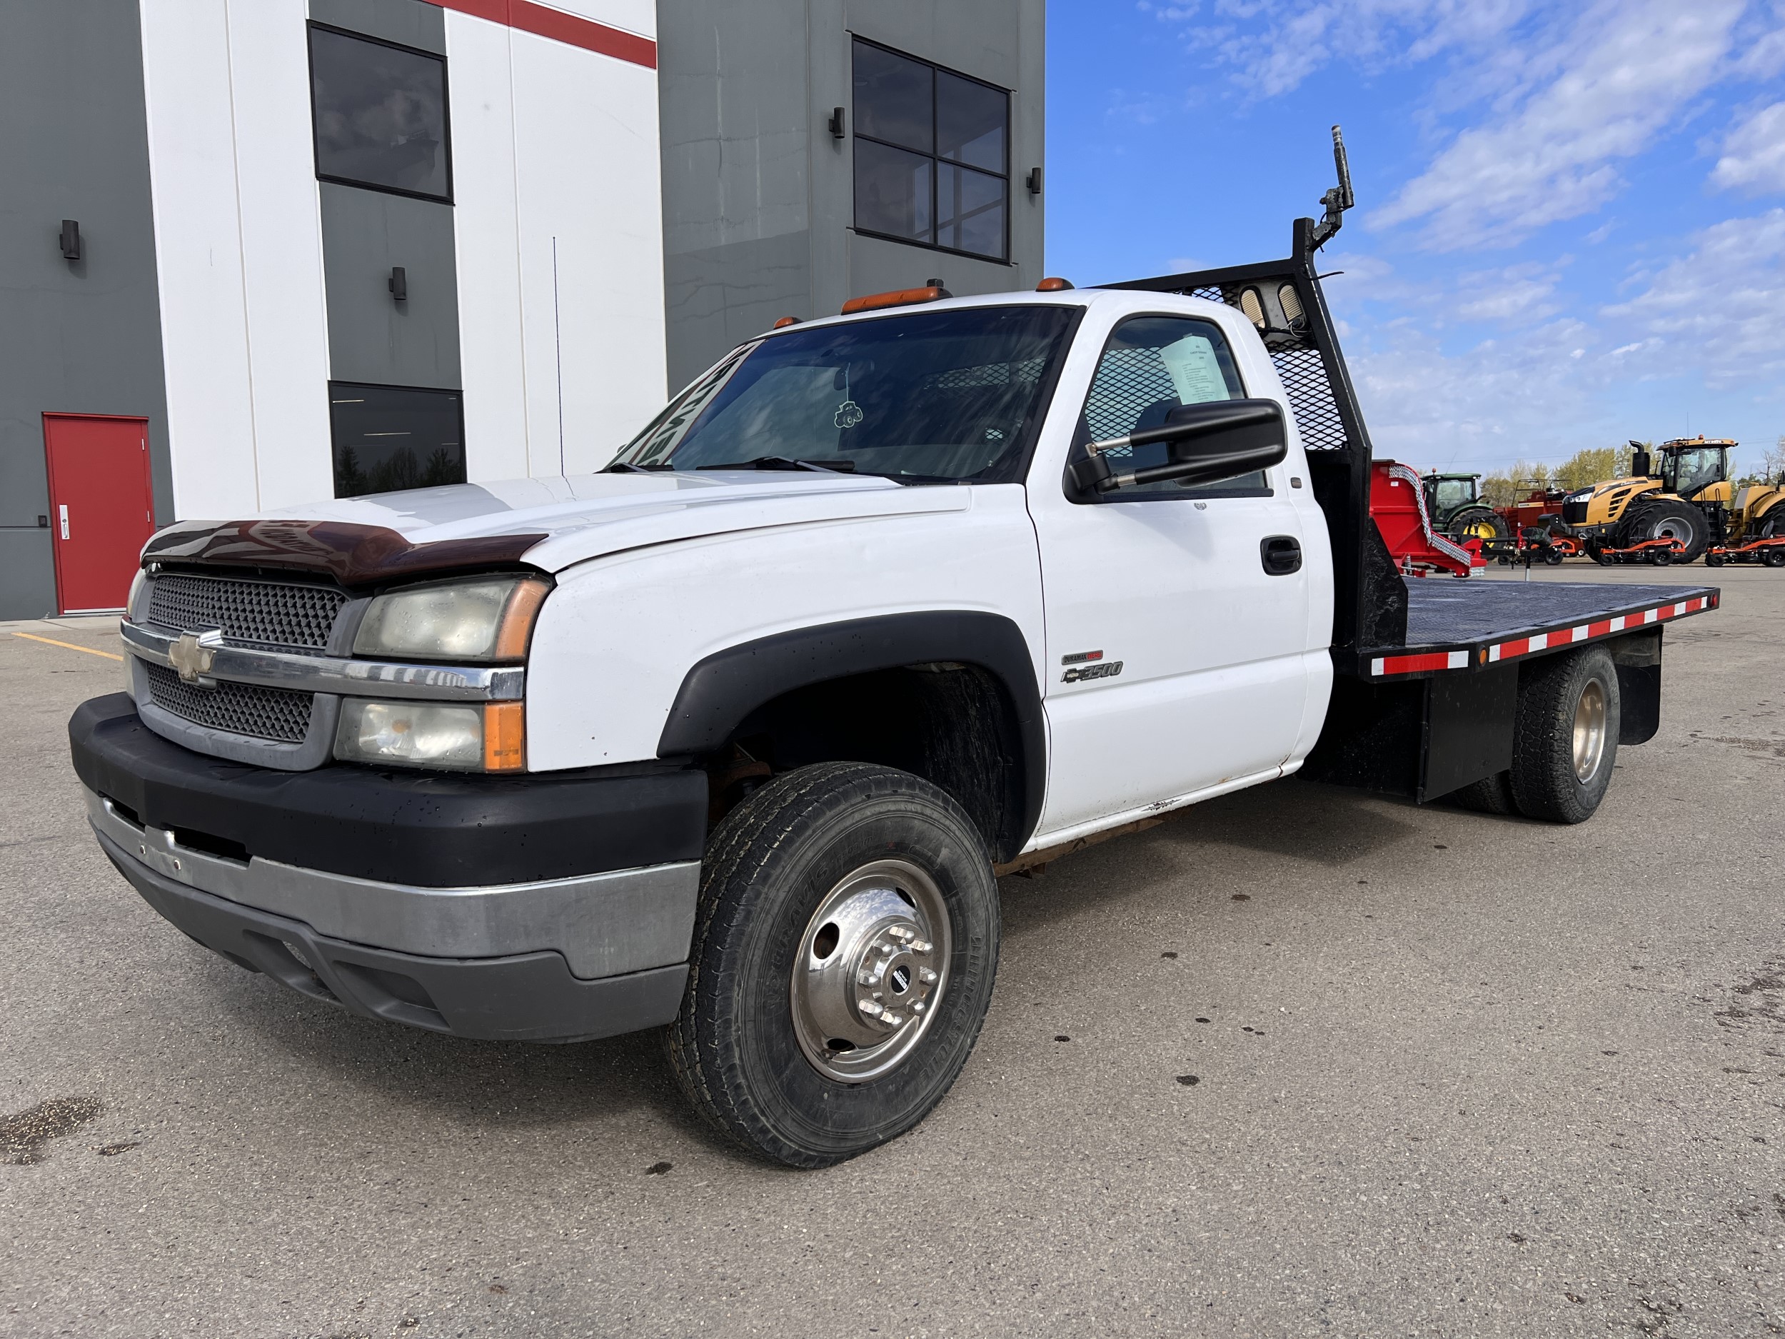
M 1576 218 L 1623 186 L 1612 166 L 1648 148 L 1717 75 L 1742 0 L 1608 0 L 1585 12 L 1558 71 L 1464 130 L 1380 209 L 1373 227 L 1423 221 L 1433 250 L 1510 245 Z

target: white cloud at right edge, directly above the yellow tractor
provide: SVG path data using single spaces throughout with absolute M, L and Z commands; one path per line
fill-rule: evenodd
M 1696 366 L 1712 389 L 1785 375 L 1785 209 L 1705 229 L 1644 282 L 1601 318 L 1648 337 L 1649 375 Z

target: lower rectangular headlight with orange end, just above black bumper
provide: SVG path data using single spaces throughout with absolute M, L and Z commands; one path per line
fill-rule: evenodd
M 336 727 L 337 759 L 448 771 L 519 771 L 527 766 L 519 702 L 464 705 L 346 698 Z

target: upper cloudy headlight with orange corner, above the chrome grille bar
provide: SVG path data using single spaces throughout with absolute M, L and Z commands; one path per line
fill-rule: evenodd
M 482 577 L 380 595 L 359 625 L 353 653 L 525 661 L 534 616 L 550 589 L 534 577 Z

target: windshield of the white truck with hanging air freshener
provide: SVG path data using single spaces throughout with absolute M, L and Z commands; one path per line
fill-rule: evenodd
M 1080 311 L 964 307 L 771 336 L 687 387 L 614 462 L 1012 482 Z

